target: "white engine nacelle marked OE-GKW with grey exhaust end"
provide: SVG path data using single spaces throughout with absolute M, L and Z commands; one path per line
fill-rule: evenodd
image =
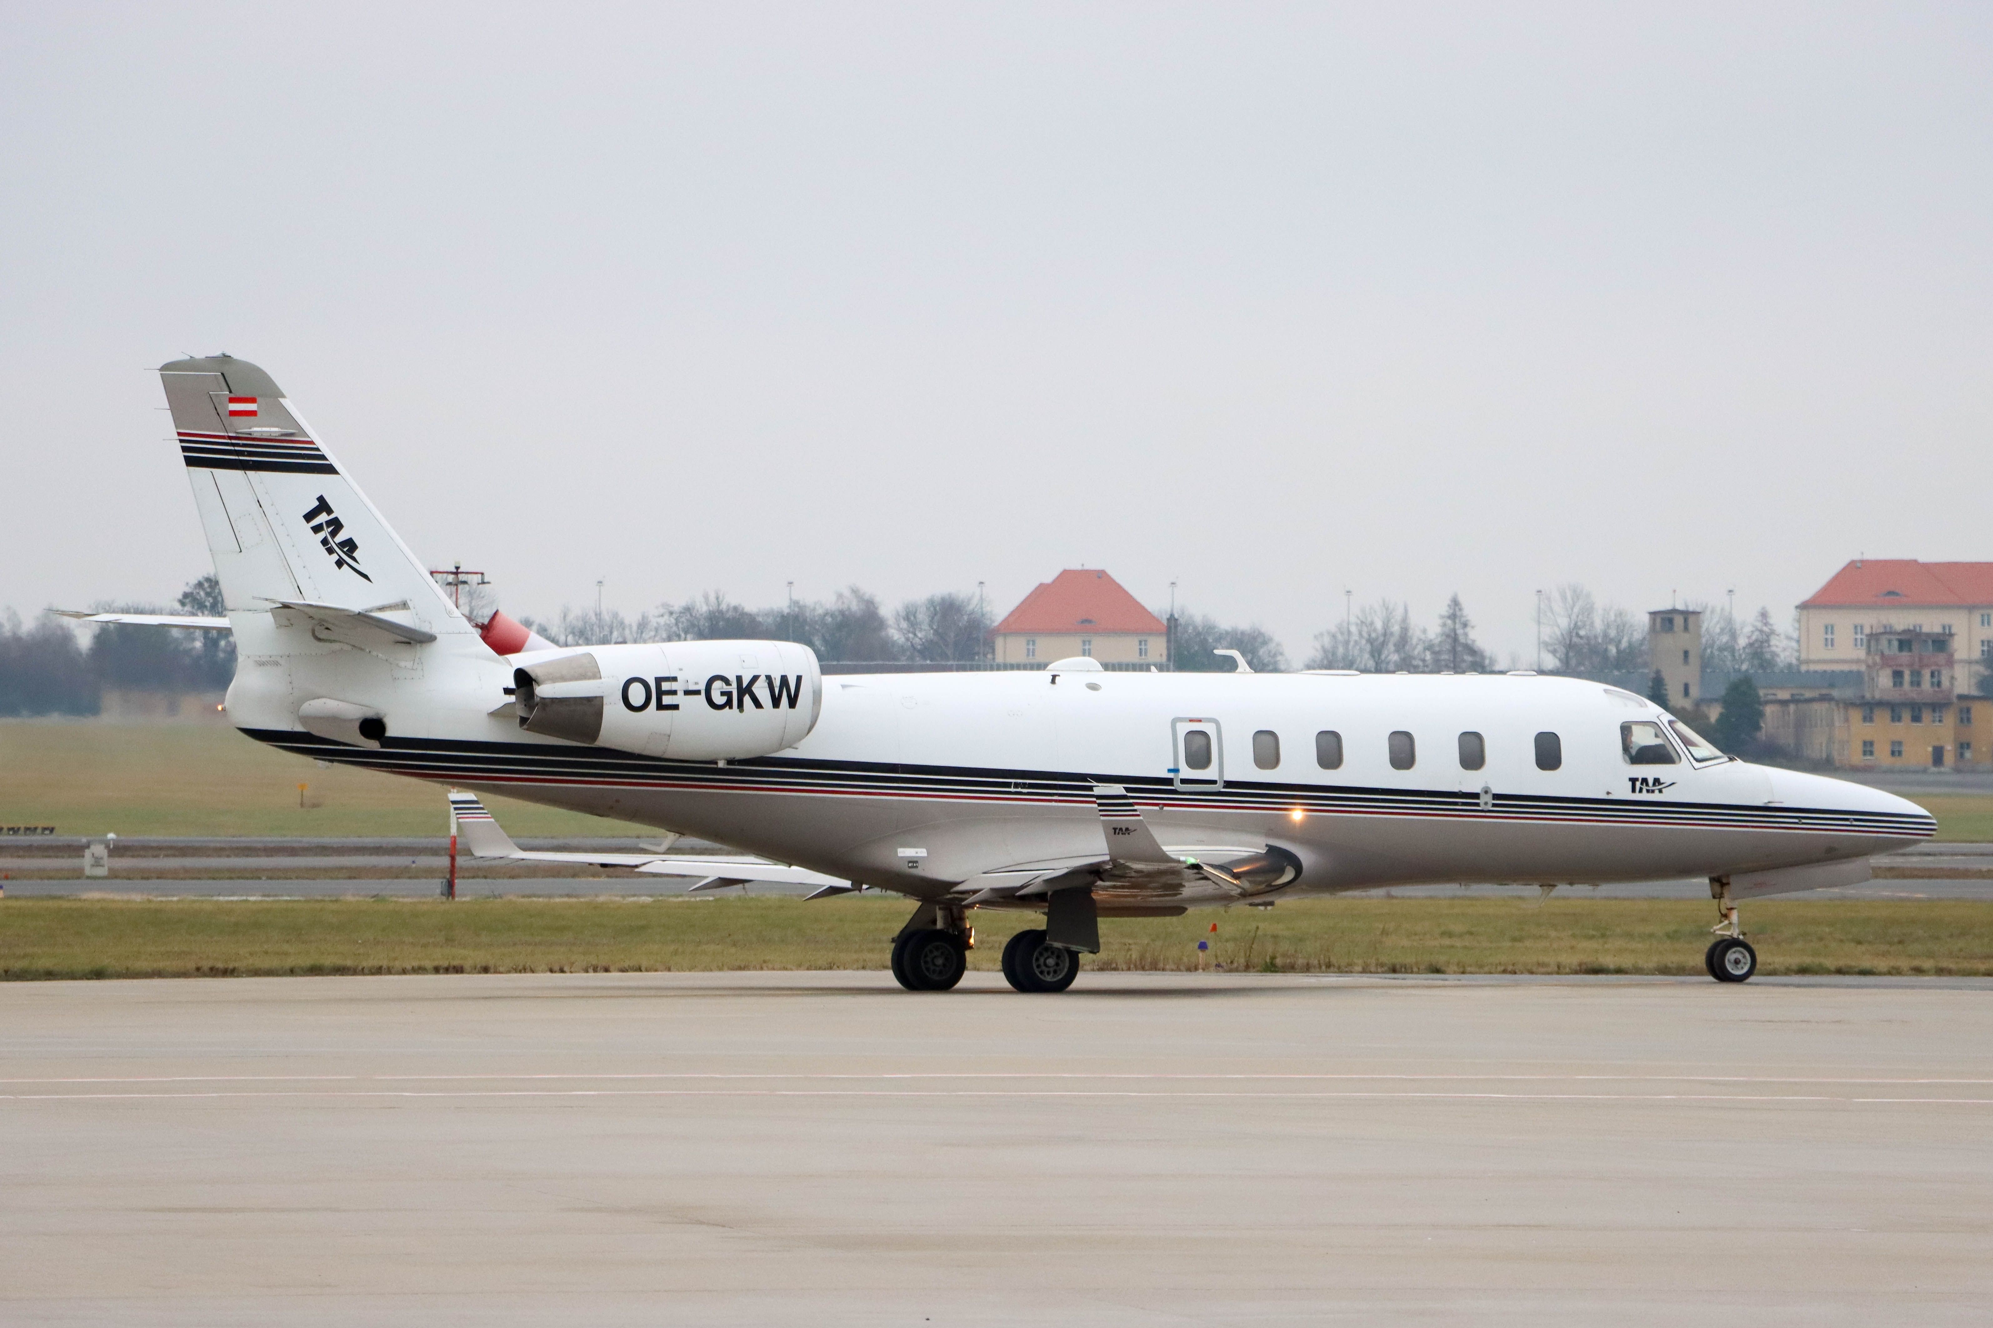
M 745 761 L 795 747 L 823 711 L 823 671 L 793 641 L 590 645 L 512 671 L 526 733 L 670 757 Z

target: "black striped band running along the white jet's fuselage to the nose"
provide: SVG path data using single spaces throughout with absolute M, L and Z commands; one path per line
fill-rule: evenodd
M 395 775 L 456 784 L 570 784 L 656 788 L 660 792 L 759 792 L 863 798 L 927 798 L 1006 804 L 1070 804 L 1096 812 L 1094 784 L 1122 784 L 1130 800 L 1158 812 L 1299 810 L 1321 816 L 1441 816 L 1533 820 L 1543 824 L 1694 826 L 1732 830 L 1808 830 L 1927 838 L 1929 816 L 1850 812 L 1804 806 L 1726 802 L 1634 802 L 1443 788 L 1363 788 L 1347 784 L 1228 782 L 1224 788 L 1176 788 L 1168 778 L 921 767 L 863 761 L 759 757 L 729 765 L 660 761 L 606 747 L 550 749 L 536 743 L 466 743 L 389 735 L 379 749 L 347 747 L 289 729 L 243 729 L 245 735 L 319 761 L 361 765 Z

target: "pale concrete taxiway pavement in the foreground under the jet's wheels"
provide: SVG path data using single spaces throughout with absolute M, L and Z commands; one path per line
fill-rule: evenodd
M 6 1324 L 1965 1324 L 1993 980 L 0 988 Z

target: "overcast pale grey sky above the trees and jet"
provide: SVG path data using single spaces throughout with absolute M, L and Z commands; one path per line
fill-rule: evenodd
M 1993 557 L 1993 8 L 0 4 L 0 603 L 263 364 L 504 607 L 1066 565 L 1303 655 Z

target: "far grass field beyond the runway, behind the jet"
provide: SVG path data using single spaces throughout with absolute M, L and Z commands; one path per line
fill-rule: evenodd
M 305 788 L 299 806 L 297 786 Z M 1993 840 L 1993 794 L 1917 796 L 1941 840 Z M 642 826 L 492 798 L 512 834 L 640 834 Z M 442 834 L 442 790 L 321 769 L 225 725 L 0 721 L 0 824 L 58 834 Z

